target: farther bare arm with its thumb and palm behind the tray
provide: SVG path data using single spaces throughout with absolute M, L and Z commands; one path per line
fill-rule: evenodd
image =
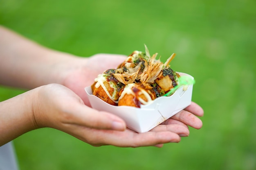
M 85 58 L 45 48 L 0 26 L 0 84 L 33 89 L 49 83 L 65 85 L 90 106 L 84 87 L 126 57 L 97 54 Z

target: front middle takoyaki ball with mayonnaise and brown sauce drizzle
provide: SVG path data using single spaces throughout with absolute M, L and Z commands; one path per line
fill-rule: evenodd
M 143 85 L 127 84 L 119 97 L 118 106 L 140 107 L 146 105 L 156 98 L 152 89 L 145 89 Z

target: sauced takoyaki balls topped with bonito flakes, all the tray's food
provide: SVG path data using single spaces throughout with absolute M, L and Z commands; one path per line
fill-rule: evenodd
M 117 69 L 99 74 L 92 85 L 93 95 L 110 105 L 140 107 L 164 96 L 179 83 L 180 75 L 170 68 L 172 54 L 165 63 L 146 52 L 134 51 Z

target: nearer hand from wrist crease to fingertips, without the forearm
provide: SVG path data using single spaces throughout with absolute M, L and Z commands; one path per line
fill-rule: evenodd
M 178 134 L 189 133 L 187 127 L 180 124 L 157 126 L 147 133 L 125 129 L 123 120 L 84 105 L 79 96 L 58 84 L 39 87 L 36 96 L 33 117 L 37 128 L 58 129 L 93 146 L 161 147 L 164 143 L 180 142 Z

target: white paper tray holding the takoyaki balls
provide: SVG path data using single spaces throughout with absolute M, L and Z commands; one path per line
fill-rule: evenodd
M 190 76 L 179 73 L 180 76 Z M 191 78 L 193 78 L 191 76 Z M 186 91 L 181 86 L 171 96 L 161 96 L 150 104 L 141 105 L 140 108 L 130 106 L 113 106 L 92 95 L 91 87 L 85 87 L 90 104 L 93 109 L 108 111 L 122 118 L 129 129 L 138 133 L 150 131 L 182 109 L 191 104 L 193 85 L 187 85 Z

